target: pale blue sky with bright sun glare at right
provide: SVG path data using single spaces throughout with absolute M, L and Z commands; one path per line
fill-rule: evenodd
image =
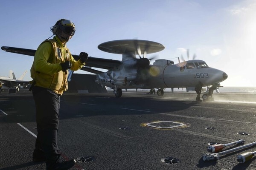
M 196 54 L 196 59 L 228 74 L 221 85 L 256 87 L 256 0 L 4 0 L 0 16 L 0 46 L 36 50 L 52 36 L 50 27 L 64 18 L 76 25 L 76 34 L 67 42 L 72 54 L 84 51 L 91 57 L 122 60 L 122 55 L 100 51 L 98 45 L 150 40 L 165 49 L 148 58 L 177 63 L 181 54 L 187 59 L 189 49 L 191 58 Z M 8 77 L 12 70 L 18 78 L 27 70 L 24 80 L 32 80 L 32 62 L 31 56 L 0 50 L 0 76 Z

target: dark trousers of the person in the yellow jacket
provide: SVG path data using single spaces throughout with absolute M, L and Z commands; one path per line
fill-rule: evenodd
M 32 93 L 38 130 L 35 150 L 43 150 L 47 159 L 46 163 L 52 164 L 60 157 L 57 145 L 60 95 L 38 86 L 33 87 Z

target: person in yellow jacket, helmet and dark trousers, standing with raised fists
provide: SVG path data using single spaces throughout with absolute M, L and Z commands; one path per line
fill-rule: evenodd
M 68 69 L 76 71 L 82 68 L 88 54 L 81 52 L 80 59 L 76 61 L 66 47 L 76 31 L 70 20 L 58 20 L 51 31 L 55 37 L 39 45 L 30 70 L 38 130 L 33 161 L 46 161 L 47 170 L 68 170 L 76 160 L 62 161 L 58 153 L 60 97 L 68 88 Z

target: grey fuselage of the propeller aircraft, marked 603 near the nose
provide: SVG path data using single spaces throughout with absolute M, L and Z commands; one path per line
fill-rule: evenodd
M 97 75 L 97 82 L 110 88 L 191 88 L 199 81 L 204 86 L 219 83 L 227 79 L 221 70 L 210 68 L 202 60 L 189 60 L 172 64 L 166 59 L 159 59 L 147 68 L 137 70 L 136 67 L 118 68 Z

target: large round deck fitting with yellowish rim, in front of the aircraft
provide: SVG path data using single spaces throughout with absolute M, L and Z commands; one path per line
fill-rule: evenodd
M 151 122 L 146 124 L 149 127 L 155 127 L 160 129 L 171 129 L 174 127 L 185 126 L 185 124 L 180 122 L 171 122 L 171 121 L 159 121 L 159 122 Z

